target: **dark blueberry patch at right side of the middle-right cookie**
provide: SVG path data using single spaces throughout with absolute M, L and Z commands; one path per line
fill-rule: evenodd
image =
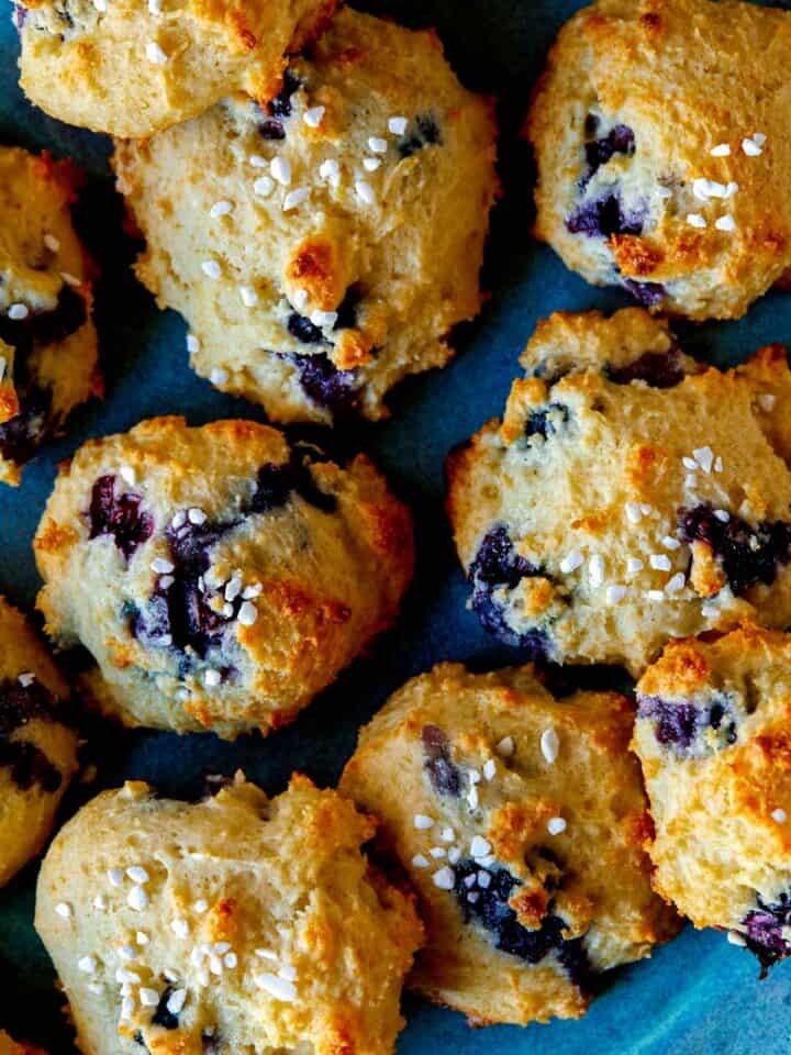
M 770 586 L 778 564 L 791 558 L 791 524 L 786 521 L 764 521 L 751 528 L 732 513 L 723 523 L 711 506 L 695 506 L 681 511 L 679 529 L 684 542 L 711 546 L 737 597 L 758 582 Z

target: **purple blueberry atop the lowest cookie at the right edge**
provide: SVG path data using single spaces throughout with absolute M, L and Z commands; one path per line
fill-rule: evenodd
M 637 704 L 638 718 L 653 722 L 657 743 L 678 755 L 720 751 L 738 740 L 738 714 L 727 693 L 714 692 L 699 703 L 643 696 Z M 716 736 L 711 735 L 711 730 Z

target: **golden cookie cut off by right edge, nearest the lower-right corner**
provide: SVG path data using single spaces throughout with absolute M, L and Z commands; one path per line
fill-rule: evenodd
M 656 889 L 766 970 L 791 954 L 791 635 L 671 642 L 637 693 Z

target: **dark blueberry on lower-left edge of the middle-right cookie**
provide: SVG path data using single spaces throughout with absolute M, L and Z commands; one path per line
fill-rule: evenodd
M 528 560 L 514 552 L 508 529 L 498 524 L 484 536 L 470 566 L 469 579 L 472 584 L 472 610 L 484 630 L 506 645 L 526 648 L 535 659 L 548 659 L 548 635 L 542 630 L 517 634 L 509 626 L 502 604 L 492 597 L 498 588 L 513 589 L 523 578 L 539 574 Z

